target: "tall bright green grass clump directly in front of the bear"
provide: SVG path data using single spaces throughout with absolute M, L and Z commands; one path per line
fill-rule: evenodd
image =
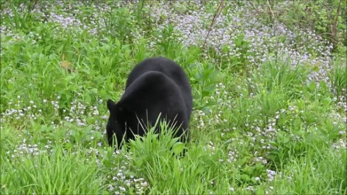
M 152 189 L 170 194 L 227 193 L 227 167 L 217 163 L 223 151 L 211 153 L 202 146 L 192 146 L 180 157 L 177 154 L 183 151 L 184 144 L 172 139 L 168 126 L 161 125 L 160 135 L 153 130 L 145 138 L 138 137 L 129 144 L 129 151 L 134 154 L 131 164 L 145 174 Z

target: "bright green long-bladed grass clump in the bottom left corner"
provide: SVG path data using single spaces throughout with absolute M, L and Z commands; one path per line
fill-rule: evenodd
M 83 193 L 95 194 L 101 189 L 100 170 L 95 162 L 88 162 L 81 154 L 72 154 L 61 147 L 53 149 L 51 155 L 39 155 L 13 164 L 2 155 L 2 193 Z M 18 186 L 18 187 L 17 187 Z

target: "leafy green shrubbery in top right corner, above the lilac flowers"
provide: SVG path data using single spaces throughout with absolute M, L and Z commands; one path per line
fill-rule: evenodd
M 333 1 L 295 1 L 282 6 L 280 9 L 277 1 L 270 3 L 270 9 L 267 4 L 256 2 L 257 6 L 263 7 L 268 22 L 274 20 L 280 21 L 286 25 L 292 26 L 292 29 L 299 25 L 301 29 L 311 29 L 323 35 L 327 40 L 335 43 L 342 40 L 344 46 L 347 46 L 345 36 L 347 17 L 347 4 L 342 0 Z M 336 49 L 336 47 L 334 47 Z

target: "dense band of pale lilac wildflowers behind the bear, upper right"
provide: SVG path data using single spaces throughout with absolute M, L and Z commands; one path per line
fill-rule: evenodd
M 325 46 L 329 42 L 322 40 L 322 37 L 315 32 L 293 31 L 285 24 L 276 21 L 274 25 L 265 25 L 254 17 L 256 13 L 253 9 L 248 9 L 249 5 L 240 7 L 235 2 L 227 2 L 228 12 L 218 15 L 211 28 L 214 13 L 208 12 L 206 7 L 200 6 L 194 11 L 182 13 L 181 10 L 172 9 L 180 7 L 176 4 L 181 3 L 173 3 L 171 7 L 164 3 L 151 5 L 155 10 L 151 17 L 155 18 L 159 31 L 166 25 L 173 24 L 176 31 L 181 34 L 179 41 L 186 47 L 201 47 L 206 40 L 206 47 L 214 49 L 219 56 L 226 57 L 228 61 L 234 56 L 238 58 L 245 56 L 249 65 L 259 65 L 274 58 L 290 60 L 293 67 L 320 64 L 320 72 L 312 73 L 311 79 L 327 81 L 325 71 L 330 68 L 332 45 Z M 217 4 L 218 2 L 214 3 L 216 10 Z M 243 40 L 248 48 L 246 53 L 241 50 L 243 46 L 235 43 L 239 35 L 244 36 Z M 284 41 L 279 41 L 279 38 L 275 37 L 283 37 Z M 300 40 L 300 43 L 297 40 Z M 297 47 L 301 43 L 304 45 Z M 317 54 L 321 56 L 316 56 L 312 60 L 312 56 Z

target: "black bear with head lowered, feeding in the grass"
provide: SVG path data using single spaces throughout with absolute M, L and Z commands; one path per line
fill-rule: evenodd
M 180 127 L 176 137 L 189 141 L 188 123 L 192 112 L 192 89 L 184 70 L 175 62 L 163 58 L 150 58 L 137 64 L 130 72 L 125 92 L 115 103 L 107 101 L 110 118 L 107 124 L 108 143 L 112 146 L 113 135 L 118 147 L 134 139 L 134 134 L 143 136 L 148 125 L 158 119 Z M 140 124 L 141 123 L 141 124 Z

